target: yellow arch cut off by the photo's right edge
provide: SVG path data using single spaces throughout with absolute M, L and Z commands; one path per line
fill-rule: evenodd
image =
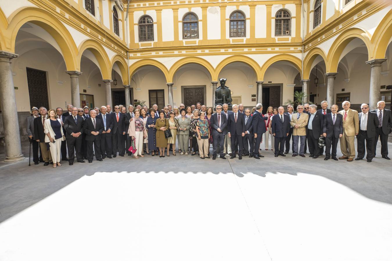
M 392 9 L 384 16 L 372 36 L 372 59 L 383 59 L 387 52 L 389 40 L 392 37 Z

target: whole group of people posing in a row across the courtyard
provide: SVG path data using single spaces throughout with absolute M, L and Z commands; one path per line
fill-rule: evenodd
M 392 114 L 385 109 L 385 103 L 377 103 L 377 110 L 369 111 L 367 104 L 361 105 L 362 112 L 350 109 L 348 101 L 343 102 L 343 110 L 338 112 L 338 105 L 333 104 L 327 109 L 327 102 L 321 103 L 321 109 L 316 105 L 298 105 L 294 113 L 292 105 L 267 108 L 262 113 L 263 106 L 243 108 L 242 104 L 232 106 L 217 105 L 215 111 L 201 103 L 187 106 L 184 104 L 172 108 L 167 105 L 158 110 L 154 104 L 147 106 L 122 105 L 102 106 L 90 110 L 89 107 L 76 108 L 71 104 L 67 112 L 62 108 L 47 111 L 46 108 L 33 107 L 32 115 L 27 118 L 27 134 L 33 145 L 33 161 L 44 166 L 53 164 L 61 166 L 61 160 L 67 160 L 73 165 L 74 157 L 78 162 L 92 162 L 113 158 L 117 154 L 125 154 L 133 158 L 144 157 L 145 154 L 159 157 L 176 156 L 176 139 L 180 155 L 196 155 L 201 159 L 210 158 L 212 144 L 212 159 L 226 159 L 249 156 L 256 159 L 264 157 L 260 153 L 260 144 L 265 140 L 265 150 L 271 149 L 274 156 L 285 157 L 290 151 L 292 140 L 292 157 L 305 157 L 307 147 L 310 156 L 318 158 L 323 155 L 324 148 L 319 147 L 319 138 L 325 138 L 325 158 L 336 158 L 338 140 L 341 152 L 339 159 L 352 161 L 356 151 L 354 138 L 358 140 L 358 155 L 356 160 L 365 157 L 365 142 L 367 161 L 371 162 L 376 154 L 377 140 L 381 140 L 381 155 L 388 158 L 387 139 L 392 128 Z M 127 112 L 128 109 L 128 112 Z M 38 151 L 40 150 L 40 157 Z M 331 153 L 332 151 L 332 153 Z M 68 152 L 68 158 L 67 158 Z M 133 152 L 133 153 L 132 153 Z M 151 154 L 150 154 L 151 152 Z

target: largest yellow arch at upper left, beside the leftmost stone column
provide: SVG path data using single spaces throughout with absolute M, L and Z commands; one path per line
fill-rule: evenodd
M 11 14 L 11 18 L 12 20 L 4 33 L 4 36 L 11 41 L 10 52 L 15 52 L 16 34 L 18 34 L 20 27 L 24 23 L 31 22 L 42 27 L 56 40 L 63 53 L 67 70 L 80 70 L 76 62 L 78 49 L 75 42 L 65 26 L 52 14 L 43 9 L 26 7 L 15 11 Z

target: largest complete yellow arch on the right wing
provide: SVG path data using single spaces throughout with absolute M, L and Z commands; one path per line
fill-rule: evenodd
M 369 59 L 371 59 L 372 43 L 370 42 L 369 34 L 360 28 L 350 28 L 342 32 L 330 47 L 327 56 L 328 64 L 326 67 L 326 73 L 338 71 L 339 58 L 345 47 L 354 38 L 359 38 L 365 43 L 368 50 Z

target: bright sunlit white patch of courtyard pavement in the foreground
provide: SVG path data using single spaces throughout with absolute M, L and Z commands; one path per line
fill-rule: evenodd
M 83 176 L 0 223 L 0 260 L 392 260 L 392 205 L 265 175 Z

